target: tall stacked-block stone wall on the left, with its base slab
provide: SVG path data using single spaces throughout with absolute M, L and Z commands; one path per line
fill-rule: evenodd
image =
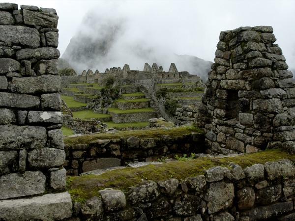
M 55 9 L 0 3 L 0 220 L 56 220 L 72 213 L 70 195 L 58 193 L 66 176 L 58 18 Z M 26 212 L 15 207 L 25 204 Z

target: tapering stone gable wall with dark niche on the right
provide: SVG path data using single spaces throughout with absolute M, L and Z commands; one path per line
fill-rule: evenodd
M 221 31 L 198 123 L 212 152 L 295 152 L 295 80 L 272 27 Z

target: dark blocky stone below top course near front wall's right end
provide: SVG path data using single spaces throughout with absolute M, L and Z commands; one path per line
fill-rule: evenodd
M 255 203 L 259 205 L 271 204 L 281 197 L 281 193 L 281 184 L 262 188 L 255 193 Z

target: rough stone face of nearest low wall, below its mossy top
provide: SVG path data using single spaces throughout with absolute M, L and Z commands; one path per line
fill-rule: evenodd
M 295 220 L 295 166 L 286 159 L 244 169 L 216 166 L 185 180 L 143 181 L 124 193 L 99 193 L 101 198 L 76 202 L 76 216 L 110 221 Z

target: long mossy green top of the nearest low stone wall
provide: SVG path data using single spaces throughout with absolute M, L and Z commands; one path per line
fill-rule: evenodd
M 244 154 L 226 158 L 198 158 L 191 161 L 176 161 L 161 165 L 148 165 L 139 168 L 124 168 L 103 173 L 101 175 L 85 175 L 67 177 L 67 191 L 71 193 L 74 201 L 85 201 L 93 196 L 98 196 L 98 190 L 114 188 L 127 192 L 127 188 L 138 185 L 142 180 L 167 180 L 176 178 L 183 180 L 204 174 L 204 169 L 212 166 L 229 166 L 231 162 L 242 168 L 253 164 L 265 164 L 268 161 L 276 161 L 288 158 L 295 161 L 295 155 L 290 155 L 280 149 L 260 151 L 252 154 Z

